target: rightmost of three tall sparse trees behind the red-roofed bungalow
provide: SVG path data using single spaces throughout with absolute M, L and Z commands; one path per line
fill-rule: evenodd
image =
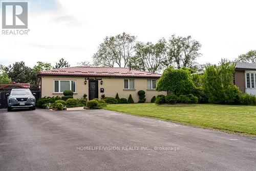
M 182 67 L 192 67 L 196 58 L 201 56 L 199 50 L 202 45 L 191 36 L 181 37 L 172 35 L 167 43 L 167 58 L 163 65 L 175 66 L 178 69 Z

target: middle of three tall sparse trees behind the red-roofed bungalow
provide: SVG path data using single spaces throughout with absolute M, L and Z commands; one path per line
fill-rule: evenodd
M 157 44 L 139 42 L 136 45 L 136 55 L 133 58 L 132 67 L 143 71 L 157 72 L 161 69 L 165 56 L 164 39 L 160 39 Z

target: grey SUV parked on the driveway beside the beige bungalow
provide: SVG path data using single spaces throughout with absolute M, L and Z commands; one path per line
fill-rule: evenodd
M 34 93 L 33 93 L 34 94 Z M 29 108 L 35 110 L 35 96 L 29 89 L 12 89 L 7 98 L 8 111 L 12 109 Z

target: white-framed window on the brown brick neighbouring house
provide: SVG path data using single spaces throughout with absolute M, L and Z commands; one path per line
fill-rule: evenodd
M 245 71 L 245 92 L 256 95 L 256 71 Z

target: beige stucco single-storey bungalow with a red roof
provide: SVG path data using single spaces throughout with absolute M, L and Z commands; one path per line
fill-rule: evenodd
M 161 74 L 134 70 L 130 68 L 108 67 L 70 67 L 38 73 L 37 83 L 41 88 L 41 97 L 62 96 L 63 91 L 72 90 L 74 98 L 88 99 L 115 97 L 128 98 L 131 94 L 134 101 L 139 101 L 138 91 L 145 91 L 146 102 L 153 96 L 166 94 L 157 92 L 157 81 Z

